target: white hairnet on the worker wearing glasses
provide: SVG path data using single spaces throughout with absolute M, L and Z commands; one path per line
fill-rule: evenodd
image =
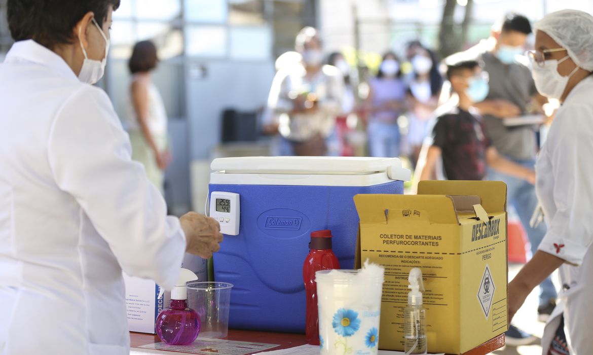
M 578 10 L 556 11 L 544 16 L 534 27 L 566 49 L 576 65 L 593 71 L 593 16 Z

